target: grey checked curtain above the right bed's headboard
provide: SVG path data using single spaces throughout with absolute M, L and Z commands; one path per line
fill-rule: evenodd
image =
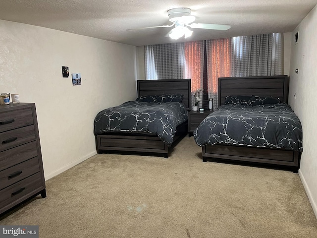
M 281 33 L 232 37 L 231 76 L 282 74 Z

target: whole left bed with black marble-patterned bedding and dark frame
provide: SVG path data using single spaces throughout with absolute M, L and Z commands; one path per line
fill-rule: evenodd
M 137 80 L 138 99 L 146 99 L 148 98 L 148 95 L 162 94 L 182 95 L 180 104 L 182 108 L 185 109 L 187 116 L 187 111 L 190 109 L 191 105 L 190 79 Z M 152 123 L 152 120 L 157 120 L 157 118 L 154 117 L 164 117 L 162 116 L 162 111 L 170 111 L 177 107 L 177 102 L 172 102 L 170 103 L 171 105 L 166 103 L 169 104 L 167 106 L 165 103 L 151 103 L 152 101 L 148 103 L 147 99 L 144 101 L 145 102 L 130 101 L 119 105 L 118 107 L 106 110 L 118 110 L 118 113 L 122 113 L 123 111 L 133 110 L 134 107 L 137 107 L 138 115 L 140 116 L 142 113 L 142 115 L 151 115 L 151 119 L 149 116 L 147 120 L 151 120 Z M 165 106 L 167 109 L 164 108 Z M 159 107 L 159 109 L 157 113 L 154 114 L 153 110 L 157 110 L 154 109 L 156 107 Z M 175 144 L 177 144 L 177 142 L 188 132 L 188 117 L 185 121 L 176 126 L 176 132 L 171 135 L 171 137 L 167 132 L 165 133 L 165 131 L 163 131 L 164 133 L 154 134 L 151 130 L 149 132 L 147 129 L 140 129 L 140 126 L 136 126 L 136 123 L 131 123 L 131 128 L 125 127 L 123 130 L 122 128 L 118 130 L 105 130 L 102 128 L 104 125 L 98 124 L 98 120 L 100 115 L 103 114 L 103 111 L 97 114 L 94 121 L 96 149 L 99 154 L 109 152 L 120 154 L 151 154 L 162 155 L 165 158 L 168 158 L 170 148 L 175 146 Z M 164 113 L 166 113 L 165 111 Z M 150 122 L 146 126 L 151 126 Z M 168 124 L 168 126 L 170 126 L 170 124 Z M 162 134 L 164 134 L 164 138 L 161 136 Z

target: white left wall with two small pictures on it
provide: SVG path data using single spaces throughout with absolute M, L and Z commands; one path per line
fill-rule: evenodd
M 45 178 L 96 154 L 94 118 L 136 98 L 136 48 L 0 20 L 0 92 L 36 104 Z M 63 78 L 61 66 L 69 66 Z M 71 73 L 82 85 L 72 86 Z

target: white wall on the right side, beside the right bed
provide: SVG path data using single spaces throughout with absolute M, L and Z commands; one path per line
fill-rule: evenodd
M 292 32 L 289 104 L 303 126 L 299 175 L 317 216 L 317 6 Z M 298 68 L 298 74 L 295 69 Z M 296 93 L 296 99 L 293 95 Z

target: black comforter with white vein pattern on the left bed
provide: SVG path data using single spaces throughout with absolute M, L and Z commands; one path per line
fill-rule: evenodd
M 185 105 L 179 102 L 129 101 L 98 113 L 94 121 L 94 133 L 150 132 L 170 146 L 176 126 L 187 119 Z

